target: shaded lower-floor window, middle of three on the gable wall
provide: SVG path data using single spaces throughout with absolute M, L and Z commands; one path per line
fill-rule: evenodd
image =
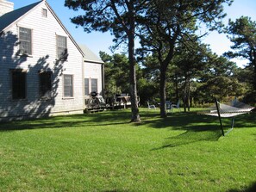
M 39 73 L 39 95 L 42 99 L 50 99 L 52 91 L 52 72 L 41 71 Z

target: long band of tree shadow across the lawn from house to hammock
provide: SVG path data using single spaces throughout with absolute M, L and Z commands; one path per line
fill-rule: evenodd
M 255 114 L 254 114 L 255 115 Z M 24 130 L 24 129 L 37 129 L 37 128 L 61 128 L 61 127 L 91 127 L 91 126 L 119 126 L 128 125 L 131 117 L 130 110 L 118 110 L 118 111 L 104 111 L 103 113 L 90 114 L 90 115 L 68 115 L 68 116 L 56 116 L 50 118 L 42 118 L 31 121 L 11 121 L 0 124 L 0 131 L 9 130 Z M 246 116 L 247 117 L 247 116 Z M 167 118 L 159 118 L 159 112 L 147 112 L 142 111 L 140 113 L 141 123 L 132 123 L 134 127 L 149 127 L 149 128 L 169 128 L 172 130 L 186 131 L 184 134 L 190 135 L 191 133 L 207 133 L 217 132 L 219 133 L 220 125 L 217 118 L 208 115 L 197 115 L 195 113 L 174 113 Z M 247 127 L 253 127 L 255 117 L 248 116 L 245 120 Z M 244 125 L 244 118 L 237 118 L 235 126 Z M 230 127 L 228 124 L 224 124 L 225 127 Z M 237 123 L 236 123 L 237 122 Z M 215 129 L 215 130 L 213 130 Z M 212 133 L 214 135 L 214 133 Z M 204 134 L 205 135 L 205 134 Z M 199 136 L 199 139 L 202 136 Z M 213 136 L 206 136 L 206 139 L 211 139 Z M 182 136 L 180 136 L 182 138 Z M 172 138 L 173 140 L 173 138 Z M 195 140 L 195 139 L 192 139 Z M 165 145 L 168 146 L 168 145 Z M 173 146 L 173 145 L 170 145 Z M 175 146 L 175 145 L 174 145 Z M 177 146 L 177 144 L 176 144 Z

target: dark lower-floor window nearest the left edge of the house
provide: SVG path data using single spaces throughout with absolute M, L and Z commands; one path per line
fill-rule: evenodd
M 11 70 L 12 99 L 26 98 L 26 71 Z

